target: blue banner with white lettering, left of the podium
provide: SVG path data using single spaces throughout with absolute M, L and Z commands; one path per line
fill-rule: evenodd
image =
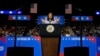
M 14 46 L 14 37 L 6 37 L 0 40 L 0 56 L 5 56 L 7 47 Z M 41 40 L 34 37 L 17 37 L 16 46 L 20 47 L 33 47 L 34 56 L 42 56 Z M 3 47 L 3 48 L 2 48 Z

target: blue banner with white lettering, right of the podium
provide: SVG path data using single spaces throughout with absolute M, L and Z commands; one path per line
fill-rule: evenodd
M 97 55 L 97 49 L 96 49 L 97 44 L 96 44 L 95 38 L 83 37 L 82 41 L 83 41 L 83 47 L 89 47 L 89 55 L 96 56 Z M 75 47 L 75 46 L 80 46 L 80 37 L 77 37 L 77 36 L 61 37 L 59 56 L 64 56 L 65 47 Z

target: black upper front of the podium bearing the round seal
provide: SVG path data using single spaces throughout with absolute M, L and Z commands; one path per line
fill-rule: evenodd
M 61 27 L 59 24 L 41 24 L 39 34 L 43 37 L 57 37 L 61 35 Z

